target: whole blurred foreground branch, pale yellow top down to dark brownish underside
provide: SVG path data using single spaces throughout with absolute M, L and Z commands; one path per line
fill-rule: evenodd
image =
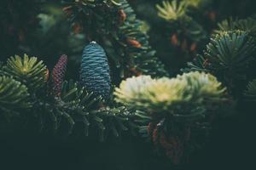
M 203 144 L 198 132 L 205 139 L 225 91 L 216 77 L 194 71 L 172 79 L 131 77 L 114 94 L 117 102 L 138 110 L 135 119 L 143 137 L 150 137 L 160 152 L 178 164 L 195 144 Z

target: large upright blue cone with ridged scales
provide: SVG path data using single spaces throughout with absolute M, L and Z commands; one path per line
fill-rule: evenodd
M 96 42 L 90 42 L 84 48 L 80 81 L 88 92 L 109 99 L 111 82 L 108 58 L 104 49 Z

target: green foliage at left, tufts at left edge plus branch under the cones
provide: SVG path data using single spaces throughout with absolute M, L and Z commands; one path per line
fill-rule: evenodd
M 36 124 L 38 130 L 47 132 L 71 134 L 76 129 L 88 136 L 90 131 L 92 137 L 98 136 L 100 140 L 110 134 L 118 137 L 122 131 L 136 128 L 130 122 L 132 111 L 124 106 L 103 105 L 104 90 L 94 94 L 78 82 L 64 81 L 66 66 L 67 56 L 62 55 L 52 71 L 53 84 L 50 87 L 54 87 L 54 93 L 51 93 L 46 86 L 48 71 L 42 61 L 38 62 L 36 57 L 26 54 L 24 58 L 15 56 L 8 59 L 1 69 L 0 79 L 3 116 L 15 113 L 14 118 L 23 117 L 30 122 L 28 124 Z M 98 82 L 94 83 L 97 85 Z M 83 132 L 77 128 L 81 126 Z

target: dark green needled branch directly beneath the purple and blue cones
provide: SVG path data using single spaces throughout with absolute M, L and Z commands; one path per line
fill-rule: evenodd
M 41 123 L 42 129 L 66 134 L 75 130 L 81 133 L 83 129 L 85 136 L 98 136 L 104 140 L 110 134 L 119 137 L 122 131 L 136 128 L 131 127 L 131 111 L 123 106 L 102 107 L 101 96 L 95 97 L 73 81 L 63 83 L 61 95 L 55 102 L 44 101 L 34 105 L 35 111 L 38 112 L 38 107 L 42 110 L 34 112 L 40 115 L 36 116 L 36 121 Z M 37 117 L 41 117 L 40 120 Z

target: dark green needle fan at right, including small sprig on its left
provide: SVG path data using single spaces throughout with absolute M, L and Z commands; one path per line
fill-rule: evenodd
M 189 66 L 192 70 L 210 71 L 220 77 L 230 72 L 231 77 L 241 77 L 253 60 L 255 49 L 253 38 L 247 32 L 223 31 L 211 38 L 203 56 Z

